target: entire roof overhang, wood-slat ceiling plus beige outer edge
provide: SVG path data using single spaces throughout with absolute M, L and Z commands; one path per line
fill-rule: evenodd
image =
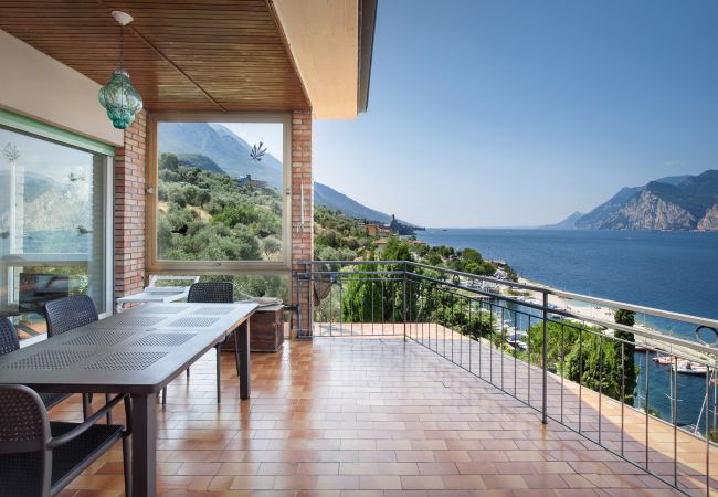
M 135 18 L 125 67 L 149 112 L 367 107 L 376 0 L 0 2 L 0 30 L 103 85 L 118 60 L 114 10 Z

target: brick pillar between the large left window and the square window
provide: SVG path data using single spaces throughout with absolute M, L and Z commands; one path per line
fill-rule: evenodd
M 147 113 L 125 130 L 115 150 L 115 298 L 145 286 L 145 160 Z

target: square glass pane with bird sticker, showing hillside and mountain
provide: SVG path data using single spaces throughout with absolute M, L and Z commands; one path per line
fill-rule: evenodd
M 282 261 L 282 123 L 160 123 L 157 133 L 158 258 Z

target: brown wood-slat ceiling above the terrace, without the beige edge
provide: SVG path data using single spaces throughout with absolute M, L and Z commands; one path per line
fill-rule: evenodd
M 267 0 L 0 0 L 0 29 L 104 85 L 125 67 L 150 110 L 310 107 Z

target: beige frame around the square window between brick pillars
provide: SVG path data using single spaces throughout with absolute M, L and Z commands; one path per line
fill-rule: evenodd
M 169 261 L 158 256 L 158 124 L 159 123 L 276 123 L 282 124 L 282 260 L 281 261 Z M 285 112 L 182 112 L 151 113 L 147 120 L 147 273 L 151 274 L 289 274 L 292 271 L 292 114 Z

